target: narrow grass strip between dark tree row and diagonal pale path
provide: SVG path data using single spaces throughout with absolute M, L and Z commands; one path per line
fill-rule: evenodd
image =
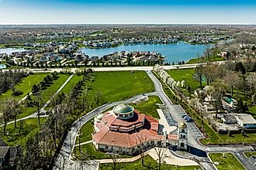
M 50 100 L 50 97 L 54 96 L 54 93 L 57 92 L 57 90 L 62 86 L 62 84 L 69 77 L 69 75 L 66 75 L 66 74 L 60 74 L 59 76 L 60 77 L 57 80 L 54 80 L 53 84 L 50 84 L 50 87 L 47 87 L 46 90 L 42 91 L 43 103 L 46 103 L 47 100 Z M 33 99 L 34 97 L 32 96 L 31 98 Z M 18 118 L 26 117 L 30 114 L 33 114 L 34 112 L 36 112 L 36 107 L 24 107 L 23 113 L 19 114 Z

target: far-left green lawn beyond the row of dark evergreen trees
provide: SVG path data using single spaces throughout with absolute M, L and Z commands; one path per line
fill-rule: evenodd
M 45 76 L 47 76 L 48 73 L 35 73 L 33 75 L 29 75 L 25 78 L 23 78 L 18 84 L 16 84 L 15 88 L 16 90 L 22 90 L 23 94 L 17 97 L 12 96 L 12 90 L 8 90 L 5 93 L 2 93 L 0 95 L 0 102 L 3 100 L 8 100 L 8 99 L 16 99 L 16 100 L 21 100 L 23 97 L 26 96 L 27 93 L 29 93 L 33 87 L 34 84 L 40 83 L 41 80 Z

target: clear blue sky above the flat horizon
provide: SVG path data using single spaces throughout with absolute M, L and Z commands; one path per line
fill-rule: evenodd
M 256 0 L 0 0 L 6 24 L 256 24 Z

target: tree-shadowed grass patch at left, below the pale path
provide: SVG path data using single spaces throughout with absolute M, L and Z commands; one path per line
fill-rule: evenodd
M 45 122 L 46 120 L 47 117 L 41 117 L 40 124 L 43 124 L 43 122 Z M 19 123 L 20 122 L 17 122 L 18 128 L 14 127 L 14 123 L 8 124 L 6 128 L 6 131 L 8 131 L 8 135 L 2 136 L 2 140 L 10 146 L 16 146 L 18 144 L 26 145 L 26 138 L 29 136 L 29 134 L 32 134 L 33 131 L 37 131 L 40 128 L 37 118 L 29 118 L 25 120 L 22 131 L 19 134 Z M 1 128 L 1 131 L 2 129 L 3 128 Z

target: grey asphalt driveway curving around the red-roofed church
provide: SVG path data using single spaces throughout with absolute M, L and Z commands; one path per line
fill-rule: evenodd
M 162 89 L 161 83 L 157 78 L 154 76 L 153 73 L 151 73 L 150 70 L 147 70 L 147 75 L 150 77 L 150 79 L 154 83 L 154 88 L 155 92 L 153 93 L 145 93 L 144 95 L 157 95 L 161 97 L 162 101 L 164 102 L 165 107 L 168 108 L 169 112 L 171 113 L 171 116 L 173 117 L 174 121 L 176 122 L 182 122 L 181 114 L 177 112 L 177 107 L 175 107 L 174 104 L 171 103 L 171 100 L 167 97 L 167 95 L 164 93 L 164 90 Z M 86 166 L 86 169 L 97 169 L 99 166 L 98 162 L 95 161 L 90 161 L 90 162 L 72 162 L 71 161 L 71 155 L 72 151 L 74 149 L 75 145 L 75 139 L 76 136 L 78 135 L 78 132 L 80 128 L 89 120 L 91 120 L 93 117 L 96 115 L 102 113 L 103 111 L 109 109 L 110 107 L 113 107 L 117 104 L 122 104 L 122 103 L 130 103 L 133 100 L 136 100 L 138 97 L 142 97 L 143 95 L 137 95 L 134 97 L 131 97 L 129 100 L 125 101 L 117 101 L 117 102 L 112 102 L 109 104 L 102 105 L 101 107 L 95 108 L 95 110 L 92 110 L 88 114 L 86 114 L 84 117 L 81 117 L 78 121 L 74 122 L 71 131 L 67 133 L 67 137 L 64 140 L 64 145 L 61 148 L 61 152 L 57 157 L 57 160 L 55 162 L 55 167 L 54 169 L 81 169 L 81 165 L 84 165 L 84 168 Z M 230 146 L 225 146 L 225 147 L 220 147 L 220 146 L 204 146 L 201 145 L 198 141 L 199 138 L 203 138 L 202 134 L 200 133 L 199 129 L 196 128 L 195 124 L 193 123 L 188 123 L 188 129 L 189 129 L 189 145 L 195 148 L 199 148 L 202 151 L 206 152 L 223 152 L 223 151 L 230 151 L 236 155 L 238 152 L 242 151 L 251 151 L 253 148 L 251 146 L 244 146 L 240 145 L 237 147 L 237 145 L 230 145 Z M 248 170 L 254 170 L 254 165 L 252 164 L 253 162 L 248 161 L 247 158 L 243 157 L 244 155 L 239 155 L 240 157 L 237 157 L 240 162 L 243 163 L 243 165 L 248 169 Z M 203 168 L 205 169 L 215 169 L 213 165 L 209 162 L 209 159 L 206 158 L 204 162 L 200 162 L 200 165 L 202 165 Z

